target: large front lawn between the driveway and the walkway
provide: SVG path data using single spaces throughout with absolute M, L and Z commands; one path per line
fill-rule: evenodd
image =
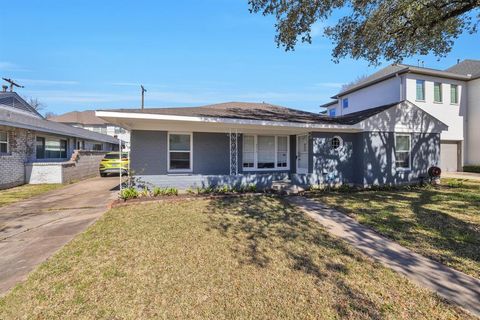
M 277 198 L 113 209 L 0 299 L 0 319 L 470 319 Z

